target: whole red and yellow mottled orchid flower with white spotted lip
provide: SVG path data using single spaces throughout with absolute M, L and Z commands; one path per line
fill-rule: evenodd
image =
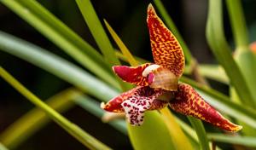
M 184 115 L 200 118 L 223 130 L 238 131 L 240 125 L 231 123 L 211 107 L 189 84 L 178 83 L 183 74 L 184 55 L 181 45 L 148 5 L 148 29 L 154 64 L 113 66 L 119 78 L 137 87 L 114 97 L 102 108 L 108 112 L 125 113 L 131 125 L 143 124 L 145 111 L 170 106 Z

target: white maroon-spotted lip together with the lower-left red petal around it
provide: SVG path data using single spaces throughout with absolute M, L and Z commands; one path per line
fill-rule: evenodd
M 108 101 L 102 108 L 108 112 L 125 112 L 132 125 L 140 125 L 143 124 L 145 111 L 166 106 L 165 101 L 156 100 L 163 92 L 161 89 L 138 86 Z

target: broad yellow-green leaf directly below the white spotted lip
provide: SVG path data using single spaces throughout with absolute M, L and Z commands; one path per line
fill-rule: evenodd
M 131 143 L 136 150 L 175 149 L 172 137 L 166 130 L 168 129 L 165 121 L 156 111 L 146 112 L 145 121 L 141 126 L 128 124 Z

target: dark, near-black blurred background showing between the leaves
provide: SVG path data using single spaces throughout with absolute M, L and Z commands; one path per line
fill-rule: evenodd
M 38 0 L 38 2 L 97 49 L 96 43 L 85 25 L 75 1 Z M 91 3 L 93 3 L 99 18 L 101 20 L 108 20 L 109 24 L 119 34 L 119 37 L 122 38 L 133 55 L 153 61 L 146 24 L 146 10 L 150 1 L 92 0 Z M 207 0 L 162 0 L 162 3 L 165 4 L 168 13 L 171 14 L 172 19 L 197 61 L 200 63 L 216 63 L 211 50 L 207 46 L 205 36 Z M 253 42 L 256 41 L 256 1 L 243 0 L 242 4 L 250 33 L 250 40 Z M 231 29 L 225 4 L 224 24 L 226 36 L 232 45 Z M 20 17 L 3 6 L 2 3 L 0 3 L 0 30 L 35 43 L 68 61 L 76 63 L 62 50 L 49 42 L 47 38 L 44 38 L 44 36 L 33 29 L 32 26 L 28 25 L 26 21 L 21 20 Z M 116 47 L 116 45 L 114 46 Z M 0 64 L 43 100 L 72 86 L 38 67 L 2 51 L 0 51 Z M 225 94 L 228 94 L 228 88 L 225 85 L 212 81 L 210 83 L 213 87 L 222 89 Z M 22 95 L 0 78 L 0 133 L 33 107 L 29 101 L 26 101 Z M 126 136 L 114 130 L 108 124 L 102 124 L 100 119 L 85 112 L 82 108 L 74 107 L 67 111 L 67 113 L 64 113 L 64 115 L 110 147 L 114 149 L 131 149 L 130 141 Z M 66 150 L 84 149 L 84 146 L 79 141 L 74 140 L 72 136 L 69 136 L 57 124 L 50 123 L 43 130 L 40 130 L 24 142 L 19 149 Z

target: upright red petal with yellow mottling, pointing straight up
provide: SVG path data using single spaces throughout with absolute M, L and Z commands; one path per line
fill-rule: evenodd
M 185 64 L 183 49 L 151 4 L 148 5 L 147 22 L 154 62 L 171 70 L 177 78 L 181 77 Z

